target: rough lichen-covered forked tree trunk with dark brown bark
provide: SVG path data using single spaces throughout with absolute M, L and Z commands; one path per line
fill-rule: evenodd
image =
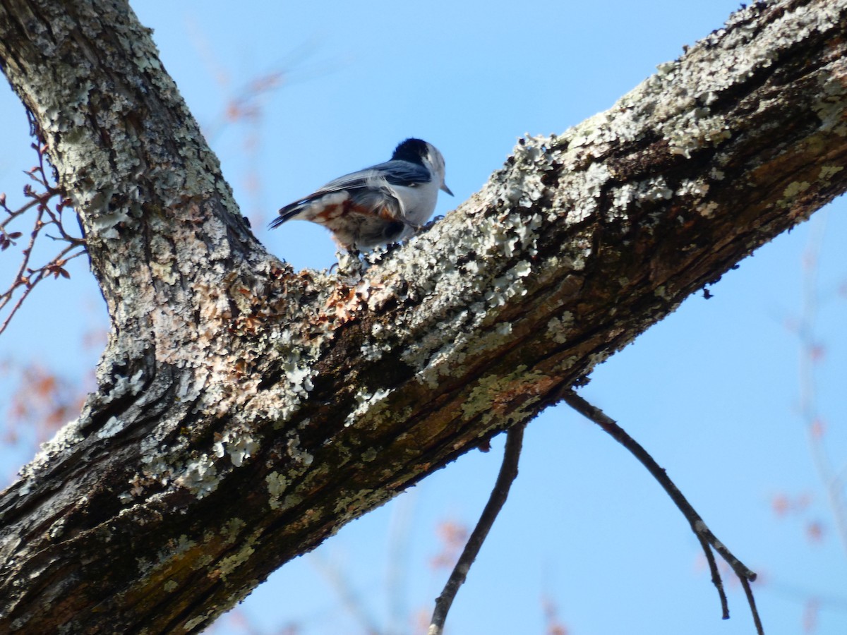
M 847 186 L 847 0 L 756 3 L 356 283 L 264 251 L 120 0 L 0 0 L 98 388 L 0 497 L 0 630 L 196 632 Z

